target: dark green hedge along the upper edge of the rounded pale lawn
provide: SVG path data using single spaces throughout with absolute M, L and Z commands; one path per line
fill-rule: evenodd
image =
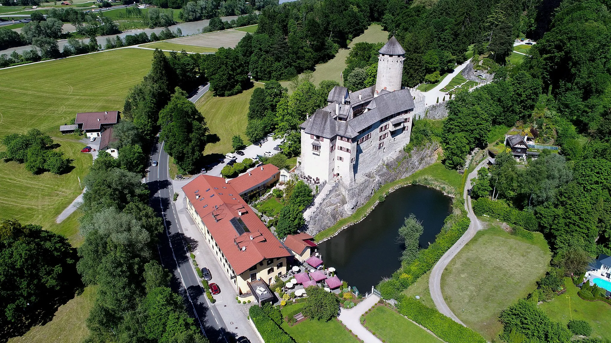
M 503 222 L 519 225 L 530 231 L 535 231 L 538 228 L 533 212 L 519 211 L 519 209 L 510 207 L 503 200 L 479 198 L 473 201 L 473 212 L 476 215 L 486 214 L 492 218 L 502 220 Z

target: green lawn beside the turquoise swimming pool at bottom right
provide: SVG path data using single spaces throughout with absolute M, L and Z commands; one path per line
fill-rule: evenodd
M 611 306 L 602 301 L 585 301 L 580 298 L 577 295 L 579 288 L 570 278 L 565 278 L 565 285 L 565 294 L 539 305 L 539 308 L 547 312 L 552 320 L 563 324 L 571 319 L 585 320 L 592 327 L 593 337 L 601 337 L 611 342 Z

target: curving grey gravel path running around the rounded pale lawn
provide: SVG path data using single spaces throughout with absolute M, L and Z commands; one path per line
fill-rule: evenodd
M 441 275 L 444 272 L 445 267 L 447 267 L 448 263 L 452 261 L 458 251 L 460 251 L 467 244 L 467 242 L 469 242 L 469 240 L 471 240 L 475 236 L 475 233 L 477 233 L 477 231 L 481 230 L 480 221 L 477 219 L 477 217 L 475 217 L 473 209 L 471 208 L 471 197 L 467 197 L 467 189 L 471 187 L 471 179 L 477 176 L 477 171 L 480 170 L 480 168 L 483 167 L 487 162 L 488 159 L 486 158 L 484 161 L 478 164 L 477 167 L 475 167 L 474 171 L 471 171 L 469 173 L 463 190 L 463 198 L 465 200 L 464 208 L 467 210 L 467 215 L 471 220 L 469 228 L 463 234 L 463 237 L 461 237 L 458 242 L 452 245 L 452 248 L 446 251 L 444 256 L 441 256 L 439 261 L 437 261 L 437 263 L 434 265 L 433 270 L 431 270 L 431 276 L 428 279 L 428 287 L 431 290 L 431 298 L 433 298 L 433 302 L 435 303 L 437 310 L 439 310 L 439 312 L 441 312 L 445 316 L 452 318 L 456 323 L 462 324 L 464 327 L 466 327 L 467 325 L 465 325 L 463 322 L 461 322 L 460 319 L 458 319 L 458 317 L 456 317 L 456 315 L 448 307 L 447 303 L 445 303 L 444 295 L 441 294 Z

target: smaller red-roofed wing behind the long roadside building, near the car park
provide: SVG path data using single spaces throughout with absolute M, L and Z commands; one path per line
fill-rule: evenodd
M 265 191 L 278 182 L 280 170 L 273 164 L 266 164 L 244 173 L 229 183 L 233 189 L 248 201 L 251 197 L 260 197 Z

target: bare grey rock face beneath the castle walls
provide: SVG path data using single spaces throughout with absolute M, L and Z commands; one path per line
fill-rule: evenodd
M 439 145 L 436 143 L 419 151 L 414 149 L 410 153 L 401 149 L 386 157 L 364 178 L 357 179 L 356 184 L 346 186 L 342 182 L 335 182 L 306 223 L 307 233 L 313 236 L 335 225 L 338 220 L 354 214 L 358 208 L 367 203 L 382 185 L 406 178 L 415 171 L 433 164 L 437 161 L 438 149 Z

